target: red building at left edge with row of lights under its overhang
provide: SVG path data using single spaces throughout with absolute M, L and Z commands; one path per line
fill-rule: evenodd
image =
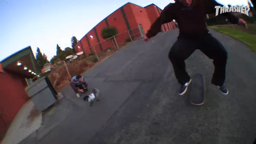
M 37 72 L 30 46 L 0 62 L 0 142 L 8 125 L 29 100 L 25 78 L 35 78 Z

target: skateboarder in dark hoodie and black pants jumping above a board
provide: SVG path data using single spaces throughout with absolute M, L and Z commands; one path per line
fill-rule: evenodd
M 209 34 L 206 25 L 206 14 L 215 14 L 215 6 L 223 5 L 215 0 L 176 0 L 175 3 L 170 3 L 163 9 L 145 35 L 144 40 L 148 41 L 160 32 L 162 24 L 172 20 L 178 23 L 179 36 L 169 52 L 169 59 L 177 81 L 181 84 L 179 95 L 185 94 L 191 83 L 184 60 L 189 58 L 196 49 L 200 49 L 208 58 L 213 59 L 215 70 L 212 75 L 212 84 L 218 86 L 224 95 L 228 94 L 228 89 L 224 86 L 227 51 L 215 37 Z M 227 17 L 230 23 L 247 28 L 247 23 L 236 15 L 230 12 L 221 15 Z

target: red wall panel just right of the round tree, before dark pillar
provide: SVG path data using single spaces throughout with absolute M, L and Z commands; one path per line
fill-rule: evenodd
M 115 18 L 116 18 L 116 20 L 115 20 Z M 113 12 L 113 14 L 109 15 L 107 17 L 107 20 L 108 20 L 109 26 L 116 27 L 117 32 L 119 34 L 124 33 L 125 31 L 128 31 L 128 28 L 125 23 L 125 18 L 122 15 L 121 9 L 118 9 L 118 10 L 116 10 L 116 12 Z M 120 34 L 116 37 L 116 42 L 123 43 L 125 41 L 125 39 L 127 39 L 127 37 L 129 37 L 128 32 L 126 32 L 124 34 Z

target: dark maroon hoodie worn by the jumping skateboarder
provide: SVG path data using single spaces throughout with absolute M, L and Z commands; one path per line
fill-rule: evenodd
M 206 14 L 215 14 L 215 6 L 223 6 L 215 0 L 192 0 L 192 9 L 189 10 L 179 0 L 170 3 L 161 12 L 160 16 L 151 25 L 146 36 L 154 37 L 161 30 L 164 23 L 175 20 L 178 23 L 180 36 L 196 36 L 208 33 L 206 25 Z M 227 17 L 232 24 L 237 24 L 239 17 L 227 12 L 220 14 Z

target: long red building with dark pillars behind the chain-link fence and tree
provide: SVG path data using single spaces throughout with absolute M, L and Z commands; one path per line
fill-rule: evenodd
M 95 48 L 96 52 L 102 52 L 105 49 L 112 47 L 112 41 L 105 41 L 104 45 L 100 43 L 104 41 L 101 36 L 102 29 L 107 26 L 116 27 L 118 33 L 136 29 L 134 32 L 131 30 L 130 34 L 133 35 L 134 33 L 141 32 L 142 35 L 145 35 L 145 32 L 148 31 L 151 24 L 160 16 L 161 12 L 162 10 L 154 4 L 141 7 L 133 3 L 126 3 L 84 35 L 76 45 L 76 52 L 83 51 L 85 55 L 88 55 L 94 52 L 92 47 Z M 173 21 L 162 26 L 162 31 L 172 29 L 175 29 L 175 23 Z M 116 42 L 123 43 L 129 37 L 128 32 L 126 34 L 118 35 L 116 37 Z

